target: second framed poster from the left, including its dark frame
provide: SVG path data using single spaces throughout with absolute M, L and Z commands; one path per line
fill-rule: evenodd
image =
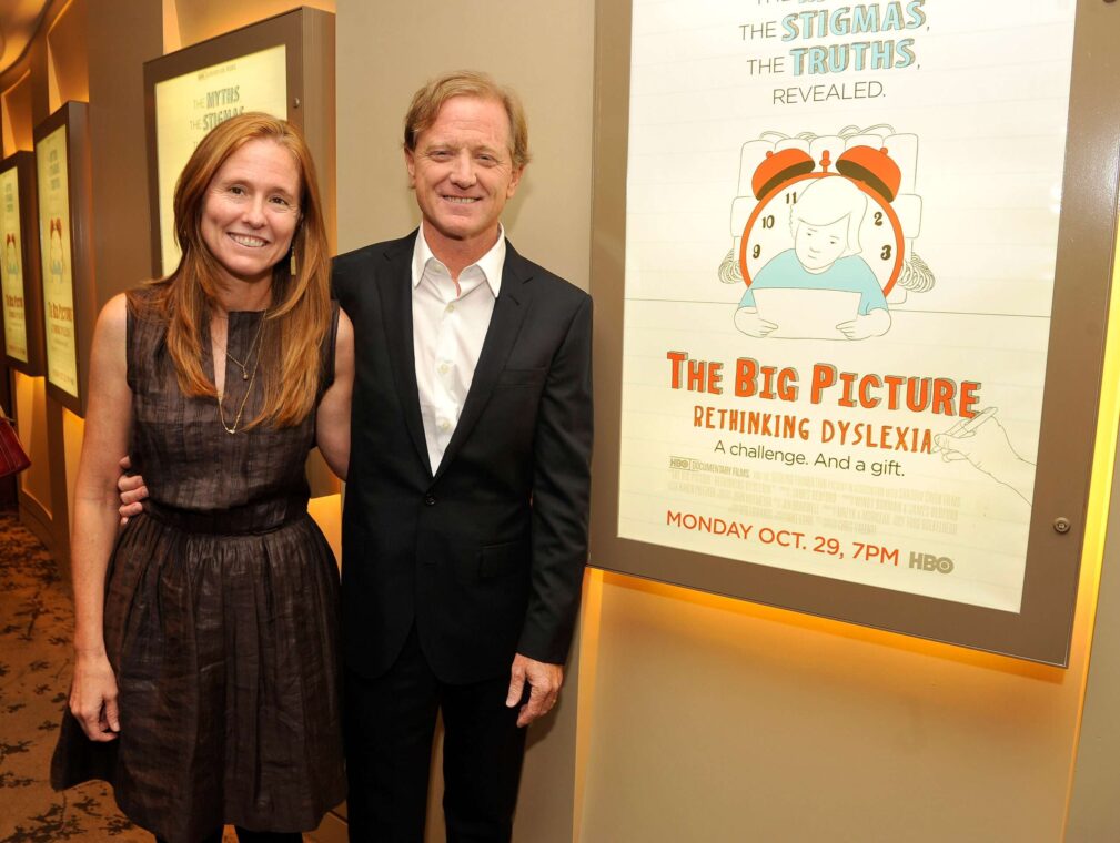
M 47 394 L 77 415 L 93 325 L 87 120 L 85 103 L 67 102 L 35 128 Z

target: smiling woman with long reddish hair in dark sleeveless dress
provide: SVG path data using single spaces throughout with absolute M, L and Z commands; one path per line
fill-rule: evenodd
M 284 121 L 242 114 L 206 135 L 175 223 L 178 268 L 112 299 L 94 334 L 52 784 L 111 781 L 169 843 L 218 841 L 225 823 L 296 841 L 345 796 L 338 575 L 304 461 L 318 443 L 345 474 L 353 331 L 329 298 L 310 153 Z M 118 540 L 125 452 L 150 498 Z

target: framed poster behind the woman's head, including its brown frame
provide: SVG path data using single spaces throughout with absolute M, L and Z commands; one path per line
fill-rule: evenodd
M 297 9 L 144 63 L 152 272 L 179 261 L 175 186 L 203 137 L 246 111 L 290 120 L 334 207 L 334 16 Z M 333 210 L 332 210 L 333 213 Z

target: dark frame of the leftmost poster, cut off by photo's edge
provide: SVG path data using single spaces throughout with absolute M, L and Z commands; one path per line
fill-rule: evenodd
M 39 377 L 46 371 L 43 348 L 43 265 L 39 263 L 39 186 L 35 153 L 13 152 L 0 160 L 0 174 L 16 170 L 19 184 L 20 260 L 24 266 L 24 330 L 27 336 L 27 362 L 12 357 L 3 346 L 4 363 L 25 375 Z

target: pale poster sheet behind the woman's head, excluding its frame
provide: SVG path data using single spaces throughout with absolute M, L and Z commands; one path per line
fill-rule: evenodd
M 156 84 L 159 233 L 164 272 L 179 262 L 175 185 L 211 129 L 245 111 L 288 116 L 287 48 L 270 47 Z

